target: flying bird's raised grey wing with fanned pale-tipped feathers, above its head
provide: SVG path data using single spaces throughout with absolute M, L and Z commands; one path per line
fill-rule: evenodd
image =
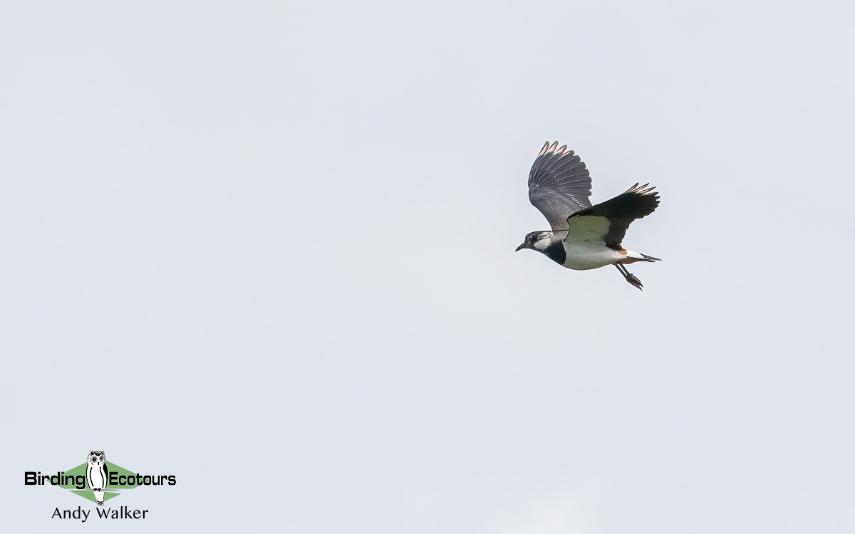
M 528 173 L 528 200 L 540 210 L 552 230 L 567 228 L 567 217 L 591 201 L 591 174 L 585 162 L 558 143 L 546 142 Z

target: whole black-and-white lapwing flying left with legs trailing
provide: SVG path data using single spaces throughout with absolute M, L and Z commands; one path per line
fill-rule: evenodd
M 532 249 L 576 271 L 614 265 L 641 289 L 641 280 L 625 267 L 636 261 L 661 261 L 623 248 L 630 223 L 652 214 L 659 193 L 635 184 L 617 197 L 591 205 L 591 173 L 567 145 L 547 141 L 528 173 L 528 200 L 544 214 L 551 231 L 531 232 L 517 250 Z

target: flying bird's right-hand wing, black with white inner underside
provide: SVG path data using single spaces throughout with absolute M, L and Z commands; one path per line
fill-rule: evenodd
M 602 239 L 605 246 L 622 248 L 629 224 L 652 214 L 659 205 L 659 193 L 649 184 L 635 184 L 617 197 L 591 208 L 581 209 L 567 218 L 569 228 L 565 241 Z

